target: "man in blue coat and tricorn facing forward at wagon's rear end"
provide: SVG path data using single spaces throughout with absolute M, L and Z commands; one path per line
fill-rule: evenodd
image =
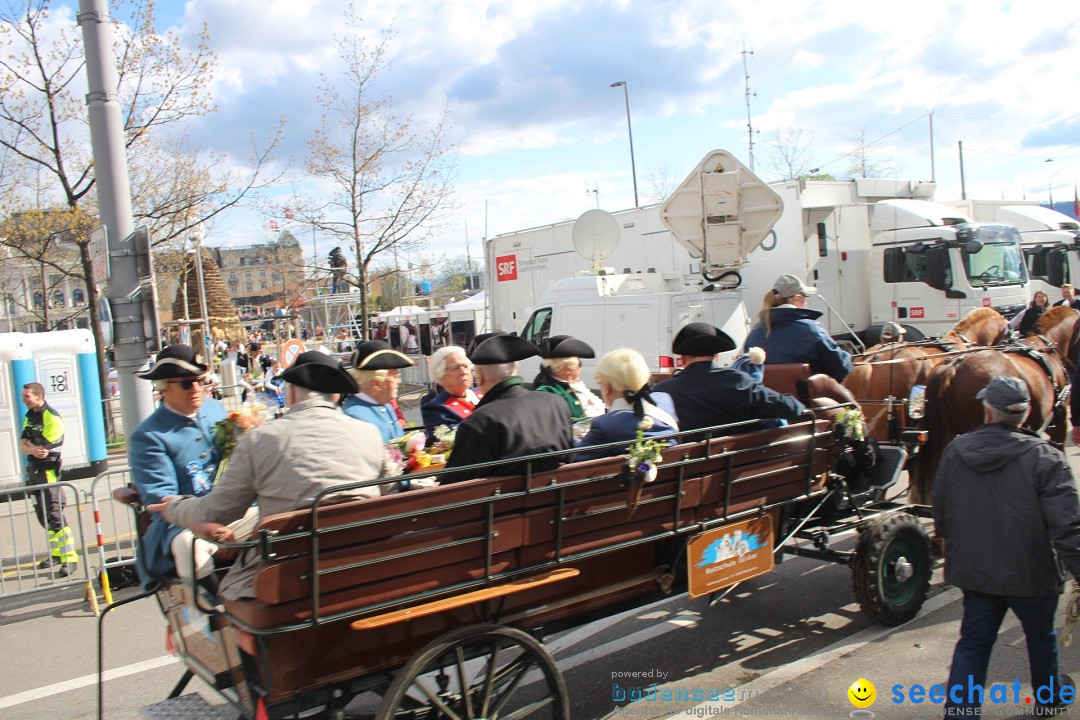
M 221 460 L 214 427 L 226 412 L 219 402 L 206 397 L 206 371 L 194 350 L 173 344 L 158 354 L 150 370 L 138 373 L 161 394 L 161 405 L 138 424 L 127 444 L 132 478 L 144 506 L 170 495 L 204 495 L 213 486 Z M 144 584 L 173 574 L 177 567 L 190 570 L 186 566 L 192 561 L 192 544 L 198 545 L 194 575 L 210 575 L 214 546 L 194 541 L 190 530 L 154 513 L 136 557 Z

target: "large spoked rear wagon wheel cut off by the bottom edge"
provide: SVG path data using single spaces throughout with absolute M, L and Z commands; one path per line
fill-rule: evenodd
M 472 625 L 428 643 L 387 689 L 376 720 L 568 720 L 554 658 L 530 635 Z

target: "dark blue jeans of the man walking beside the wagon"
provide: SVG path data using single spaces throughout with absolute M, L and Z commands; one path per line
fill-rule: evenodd
M 986 668 L 990 664 L 990 651 L 998 639 L 998 629 L 1004 620 L 1005 610 L 1012 610 L 1024 628 L 1027 640 L 1027 662 L 1031 670 L 1031 687 L 1035 690 L 1053 682 L 1056 701 L 1057 688 L 1057 633 L 1054 630 L 1054 613 L 1057 610 L 1057 595 L 1028 598 L 985 595 L 972 590 L 963 592 L 963 620 L 960 622 L 960 639 L 953 651 L 953 667 L 948 674 L 946 692 L 954 685 L 961 685 L 962 702 L 957 703 L 949 694 L 945 701 L 945 715 L 950 708 L 977 708 L 982 705 L 978 694 L 969 694 L 969 685 L 986 685 Z M 1040 699 L 1048 699 L 1047 691 Z M 969 702 L 974 701 L 974 702 Z M 1049 704 L 1049 703 L 1048 703 Z M 968 710 L 970 712 L 970 710 Z M 972 717 L 964 715 L 964 717 Z

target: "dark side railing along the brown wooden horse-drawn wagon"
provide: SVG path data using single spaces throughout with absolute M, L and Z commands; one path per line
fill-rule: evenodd
M 811 417 L 808 412 L 808 418 Z M 297 539 L 308 538 L 310 541 L 310 566 L 308 570 L 308 576 L 305 579 L 309 585 L 309 593 L 311 598 L 311 616 L 305 621 L 298 621 L 296 623 L 279 626 L 273 628 L 265 627 L 253 627 L 234 616 L 231 622 L 237 626 L 245 629 L 253 635 L 270 635 L 279 633 L 287 633 L 293 630 L 299 630 L 325 623 L 332 623 L 349 617 L 361 617 L 374 614 L 379 614 L 382 612 L 405 609 L 407 607 L 420 604 L 430 600 L 437 598 L 444 598 L 459 593 L 464 593 L 471 589 L 482 588 L 491 586 L 498 583 L 512 581 L 527 575 L 532 575 L 537 573 L 542 573 L 544 571 L 552 570 L 554 568 L 566 566 L 567 563 L 582 560 L 584 558 L 594 557 L 597 555 L 604 555 L 608 553 L 615 553 L 617 551 L 647 545 L 649 543 L 654 543 L 659 540 L 670 539 L 675 536 L 696 534 L 713 527 L 718 527 L 725 524 L 733 522 L 746 517 L 760 516 L 762 514 L 769 513 L 773 510 L 783 507 L 791 503 L 800 502 L 805 500 L 810 500 L 818 498 L 829 492 L 826 488 L 815 489 L 819 487 L 816 484 L 816 478 L 820 477 L 820 472 L 814 473 L 814 454 L 815 451 L 831 444 L 834 439 L 833 431 L 829 423 L 825 422 L 806 422 L 798 423 L 796 425 L 788 425 L 781 429 L 775 429 L 771 431 L 761 431 L 761 443 L 755 443 L 747 447 L 737 447 L 731 448 L 732 441 L 740 437 L 746 437 L 745 433 L 758 425 L 758 421 L 748 421 L 732 423 L 728 425 L 719 425 L 716 427 L 707 430 L 696 430 L 678 433 L 674 437 L 678 439 L 685 439 L 687 437 L 704 438 L 700 446 L 686 446 L 677 445 L 669 448 L 664 451 L 664 460 L 660 464 L 661 471 L 665 468 L 674 468 L 674 483 L 672 484 L 671 490 L 669 492 L 663 492 L 657 497 L 643 498 L 639 507 L 646 507 L 649 505 L 654 505 L 658 503 L 670 503 L 672 510 L 670 515 L 666 515 L 667 522 L 671 529 L 659 530 L 648 534 L 644 534 L 638 538 L 622 540 L 612 544 L 606 544 L 602 547 L 595 547 L 592 549 L 584 549 L 579 552 L 567 553 L 564 549 L 564 538 L 567 528 L 570 524 L 584 520 L 590 517 L 603 516 L 605 514 L 615 513 L 626 513 L 627 504 L 619 504 L 615 506 L 602 507 L 595 512 L 589 512 L 582 515 L 567 515 L 567 493 L 573 488 L 588 485 L 602 483 L 605 480 L 610 480 L 618 477 L 622 472 L 622 465 L 625 464 L 625 456 L 617 457 L 616 459 L 607 458 L 604 459 L 608 462 L 612 460 L 621 461 L 619 463 L 612 463 L 612 472 L 604 472 L 596 475 L 589 475 L 585 477 L 579 477 L 575 479 L 568 479 L 561 481 L 559 475 L 567 475 L 569 472 L 577 467 L 581 467 L 583 463 L 573 463 L 568 465 L 563 465 L 555 470 L 548 471 L 535 471 L 534 465 L 540 461 L 549 461 L 552 459 L 553 454 L 572 456 L 575 452 L 580 451 L 580 449 L 562 451 L 558 453 L 541 453 L 536 456 L 529 456 L 524 458 L 516 458 L 513 462 L 524 463 L 525 472 L 523 474 L 523 481 L 519 484 L 519 489 L 505 489 L 496 490 L 489 497 L 467 499 L 460 502 L 440 502 L 432 505 L 431 507 L 422 508 L 420 511 L 408 511 L 404 513 L 391 513 L 377 518 L 368 518 L 349 522 L 335 522 L 329 526 L 325 526 L 321 522 L 321 515 L 325 513 L 326 510 L 334 507 L 341 501 L 348 501 L 350 492 L 355 492 L 364 488 L 373 488 L 380 484 L 387 481 L 387 478 L 379 478 L 374 480 L 365 480 L 362 483 L 354 483 L 349 485 L 336 486 L 334 488 L 328 488 L 323 492 L 319 493 L 315 498 L 311 510 L 311 524 L 310 527 L 297 532 L 275 534 L 271 531 L 262 530 L 260 535 L 256 541 L 252 543 L 243 543 L 241 546 L 252 546 L 257 545 L 260 548 L 261 557 L 264 561 L 275 561 L 284 559 L 287 556 L 279 556 L 275 552 L 275 547 L 280 547 L 282 543 L 286 541 L 296 541 Z M 798 432 L 793 432 L 798 431 Z M 743 434 L 739 434 L 739 433 Z M 780 439 L 773 439 L 780 436 Z M 594 446 L 590 449 L 598 448 L 620 448 L 624 449 L 626 446 L 625 441 L 611 443 L 605 446 Z M 693 449 L 700 447 L 700 456 L 698 456 Z M 751 472 L 739 474 L 733 477 L 733 472 L 738 461 L 741 457 L 750 456 L 753 453 L 760 453 L 764 449 L 769 450 L 769 459 L 783 459 L 788 458 L 792 462 L 785 464 L 780 468 L 764 470 L 760 472 Z M 717 462 L 723 462 L 723 470 L 715 468 L 713 471 L 704 471 L 700 475 L 694 474 L 694 471 L 699 466 L 715 466 Z M 600 460 L 589 461 L 596 462 L 599 465 L 604 463 Z M 470 466 L 470 471 L 476 471 L 482 468 L 490 468 L 492 472 L 497 471 L 499 466 L 505 466 L 507 460 L 495 461 L 484 464 L 477 464 Z M 415 473 L 410 476 L 402 476 L 397 478 L 392 478 L 394 480 L 402 479 L 404 477 L 417 477 L 417 476 L 432 476 L 442 475 L 446 472 L 456 472 L 461 468 L 454 468 L 451 471 L 440 471 L 438 473 Z M 738 495 L 738 488 L 741 485 L 750 484 L 754 481 L 760 481 L 770 477 L 775 477 L 783 473 L 792 473 L 793 471 L 800 471 L 802 477 L 800 479 L 802 489 L 801 492 L 795 498 L 786 498 L 783 500 L 770 502 L 762 498 L 761 502 L 754 505 L 753 507 L 744 508 L 741 511 L 732 511 L 732 498 Z M 667 472 L 671 472 L 669 470 Z M 720 474 L 725 478 L 724 485 L 724 499 L 720 512 L 715 517 L 708 519 L 698 519 L 693 521 L 688 521 L 683 517 L 683 498 L 685 495 L 686 483 L 696 477 L 703 477 L 708 474 Z M 508 481 L 513 481 L 513 477 L 508 477 Z M 670 480 L 669 480 L 670 481 Z M 789 484 L 789 483 L 788 483 Z M 409 493 L 411 494 L 411 493 Z M 554 554 L 548 560 L 528 563 L 525 566 L 515 566 L 502 571 L 495 571 L 492 567 L 495 547 L 494 540 L 495 533 L 498 532 L 496 528 L 497 516 L 496 505 L 497 504 L 513 504 L 515 501 L 522 501 L 524 503 L 526 500 L 552 497 L 553 500 L 549 505 L 537 505 L 537 507 L 550 507 L 554 505 L 554 533 L 551 544 L 554 546 Z M 434 501 L 434 498 L 433 498 Z M 435 543 L 431 545 L 422 545 L 411 549 L 405 549 L 401 553 L 393 553 L 389 555 L 380 555 L 379 557 L 356 560 L 352 562 L 347 562 L 343 565 L 337 565 L 329 568 L 322 568 L 322 553 L 321 544 L 322 541 L 333 533 L 348 531 L 350 529 L 373 527 L 379 525 L 390 525 L 394 521 L 409 520 L 416 521 L 416 518 L 424 518 L 431 516 L 437 516 L 442 513 L 447 513 L 454 510 L 471 507 L 482 505 L 484 514 L 483 532 L 475 535 L 469 535 L 465 538 L 459 538 L 446 543 Z M 514 505 L 516 510 L 513 512 L 524 513 L 524 506 Z M 613 515 L 612 515 L 613 517 Z M 664 522 L 658 520 L 658 525 L 661 527 Z M 431 526 L 423 525 L 419 522 L 418 529 L 426 529 Z M 407 536 L 408 533 L 404 533 L 402 536 Z M 405 561 L 408 558 L 422 555 L 424 553 L 444 551 L 453 547 L 460 547 L 465 545 L 472 545 L 474 543 L 483 543 L 483 573 L 473 580 L 464 580 L 461 582 L 453 583 L 442 587 L 435 587 L 431 589 L 417 590 L 409 593 L 407 595 L 395 597 L 382 601 L 365 603 L 362 607 L 348 608 L 346 610 L 337 612 L 324 612 L 322 608 L 323 594 L 321 593 L 321 584 L 323 579 L 332 575 L 334 573 L 346 572 L 349 570 L 362 569 L 369 567 L 378 562 L 384 562 L 387 560 L 402 560 Z M 339 548 L 340 549 L 340 548 Z M 297 557 L 302 557 L 307 552 L 301 552 L 297 554 Z

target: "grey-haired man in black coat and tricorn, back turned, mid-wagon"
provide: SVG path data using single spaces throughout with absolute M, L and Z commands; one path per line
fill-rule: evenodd
M 570 407 L 562 397 L 525 388 L 517 375 L 517 361 L 538 353 L 531 342 L 509 335 L 494 336 L 470 349 L 476 383 L 484 399 L 458 425 L 448 467 L 567 450 L 573 447 Z M 534 463 L 534 470 L 552 470 L 568 458 Z M 524 472 L 523 463 L 448 474 L 442 484 L 485 475 Z

